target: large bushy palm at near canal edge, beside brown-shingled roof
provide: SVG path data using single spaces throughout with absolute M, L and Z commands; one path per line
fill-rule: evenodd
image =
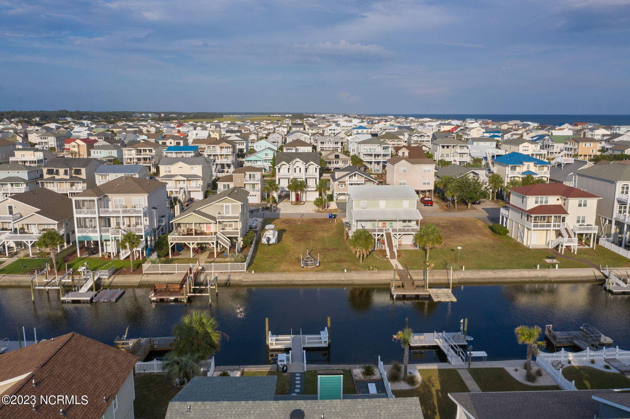
M 193 310 L 173 327 L 173 335 L 173 352 L 176 355 L 190 354 L 199 361 L 214 356 L 221 347 L 224 333 L 217 330 L 217 321 L 207 311 Z

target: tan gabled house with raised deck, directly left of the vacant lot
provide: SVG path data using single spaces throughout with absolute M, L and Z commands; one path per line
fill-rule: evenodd
M 193 247 L 199 245 L 212 247 L 215 257 L 221 249 L 229 252 L 234 247 L 239 252 L 248 232 L 248 195 L 242 187 L 232 187 L 176 213 L 171 221 L 173 232 L 168 235 L 169 257 L 177 243 L 188 245 L 190 257 Z

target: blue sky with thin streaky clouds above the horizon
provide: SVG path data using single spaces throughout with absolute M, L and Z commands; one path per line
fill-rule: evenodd
M 0 109 L 630 114 L 630 0 L 0 0 Z

